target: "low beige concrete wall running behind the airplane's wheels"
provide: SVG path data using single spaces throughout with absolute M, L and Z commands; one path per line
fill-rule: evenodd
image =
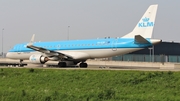
M 131 62 L 131 61 L 100 61 L 87 60 L 88 68 L 113 68 L 113 69 L 161 69 L 161 70 L 180 70 L 180 63 L 161 63 L 161 62 Z M 19 60 L 0 58 L 0 63 L 19 63 Z M 44 65 L 31 64 L 29 60 L 23 63 L 28 64 L 27 67 L 48 67 L 48 65 L 57 65 L 58 61 L 48 61 Z

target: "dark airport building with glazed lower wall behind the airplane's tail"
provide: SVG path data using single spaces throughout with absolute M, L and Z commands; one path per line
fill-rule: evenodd
M 161 42 L 126 55 L 112 57 L 113 61 L 180 62 L 180 43 Z

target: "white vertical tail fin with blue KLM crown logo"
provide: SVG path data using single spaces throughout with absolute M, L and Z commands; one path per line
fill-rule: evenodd
M 155 24 L 156 12 L 158 5 L 151 5 L 144 13 L 134 30 L 122 38 L 134 38 L 135 35 L 141 35 L 144 38 L 151 38 Z

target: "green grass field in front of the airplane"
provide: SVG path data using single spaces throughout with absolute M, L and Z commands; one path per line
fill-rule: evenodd
M 0 69 L 1 101 L 178 101 L 171 71 Z

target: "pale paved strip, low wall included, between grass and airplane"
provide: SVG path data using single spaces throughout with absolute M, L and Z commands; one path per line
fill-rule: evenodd
M 57 61 L 48 61 L 46 64 L 36 66 L 29 61 L 24 61 L 24 67 L 18 67 L 19 61 L 10 59 L 0 59 L 0 63 L 8 64 L 1 65 L 0 68 L 40 68 L 40 69 L 67 69 L 67 70 L 140 70 L 140 71 L 180 71 L 179 63 L 160 63 L 160 62 L 131 62 L 131 61 L 99 61 L 88 60 L 88 68 L 79 67 L 57 67 Z M 12 65 L 16 64 L 16 65 Z M 56 67 L 55 67 L 56 66 Z

